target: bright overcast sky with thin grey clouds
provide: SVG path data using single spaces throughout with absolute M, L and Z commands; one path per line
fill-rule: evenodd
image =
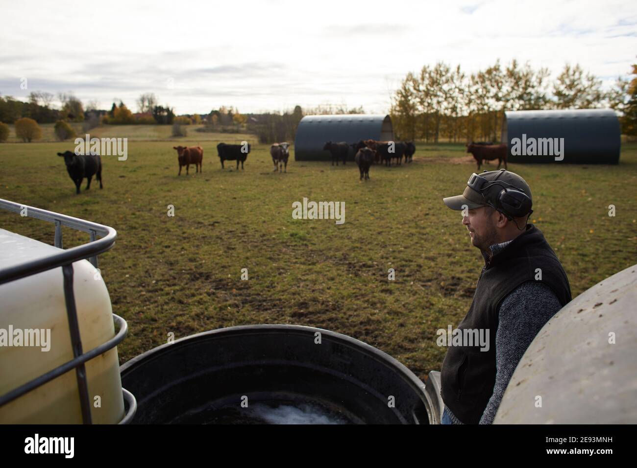
M 637 62 L 634 0 L 0 1 L 0 93 L 73 91 L 101 108 L 117 98 L 136 111 L 153 92 L 178 114 L 383 113 L 408 71 L 439 60 L 472 72 L 515 58 L 554 74 L 579 63 L 606 84 Z

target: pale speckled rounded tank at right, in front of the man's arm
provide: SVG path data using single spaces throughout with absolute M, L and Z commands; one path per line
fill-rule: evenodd
M 533 339 L 494 424 L 637 423 L 637 264 L 585 290 Z

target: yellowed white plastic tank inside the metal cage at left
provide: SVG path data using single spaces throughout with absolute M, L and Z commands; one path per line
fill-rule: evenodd
M 0 229 L 1 267 L 58 252 L 61 249 Z M 104 281 L 88 260 L 73 263 L 73 290 L 86 352 L 115 336 L 111 301 Z M 10 329 L 13 337 L 7 336 Z M 49 342 L 9 346 L 3 341 L 4 337 L 15 344 L 16 330 L 35 329 L 45 330 L 44 341 L 50 330 Z M 42 350 L 47 347 L 48 351 Z M 0 285 L 0 395 L 72 359 L 62 268 Z M 89 360 L 85 367 L 93 423 L 118 423 L 124 416 L 124 399 L 117 348 Z M 82 423 L 75 369 L 0 406 L 0 423 Z

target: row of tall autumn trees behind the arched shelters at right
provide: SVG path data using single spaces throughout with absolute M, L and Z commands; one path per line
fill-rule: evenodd
M 627 80 L 618 78 L 612 89 L 603 90 L 601 80 L 578 64 L 566 64 L 554 80 L 550 76 L 546 67 L 533 69 L 517 60 L 506 66 L 496 60 L 470 74 L 460 65 L 425 65 L 418 73 L 408 73 L 392 96 L 394 132 L 398 139 L 434 143 L 443 139 L 496 142 L 501 139 L 505 111 L 599 107 L 617 110 L 622 129 L 629 130 Z

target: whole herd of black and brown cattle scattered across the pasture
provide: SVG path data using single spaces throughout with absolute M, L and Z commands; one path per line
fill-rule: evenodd
M 289 148 L 290 144 L 285 141 L 283 143 L 274 143 L 270 146 L 270 155 L 275 171 L 287 172 L 287 161 L 290 157 Z M 412 162 L 413 153 L 416 152 L 416 146 L 413 141 L 375 141 L 373 139 L 360 140 L 358 143 L 346 143 L 345 141 L 333 143 L 332 141 L 327 141 L 323 146 L 323 150 L 329 151 L 331 154 L 332 166 L 334 166 L 334 162 L 338 166 L 339 160 L 346 164 L 350 148 L 353 148 L 355 152 L 354 161 L 359 167 L 361 174 L 359 180 L 369 180 L 369 168 L 373 164 L 383 164 L 389 167 L 393 162 L 396 165 L 400 165 L 403 163 L 403 158 L 404 162 Z M 177 150 L 179 163 L 179 173 L 177 175 L 182 174 L 183 166 L 186 167 L 186 174 L 188 174 L 190 164 L 195 165 L 197 173 L 202 171 L 203 148 L 201 146 L 173 146 L 173 149 Z M 241 164 L 241 169 L 243 169 L 243 163 L 247 159 L 250 149 L 251 146 L 245 142 L 241 145 L 219 143 L 217 145 L 217 153 L 221 168 L 224 169 L 224 161 L 229 160 L 237 162 L 237 169 L 239 169 L 239 164 Z M 506 169 L 506 157 L 508 154 L 506 145 L 492 145 L 490 141 L 472 141 L 467 145 L 467 152 L 473 155 L 478 164 L 478 170 L 483 161 L 494 159 L 499 161 L 498 169 L 502 162 L 505 163 Z M 66 170 L 71 180 L 75 183 L 76 194 L 80 193 L 80 185 L 82 185 L 83 178 L 87 179 L 85 190 L 89 190 L 93 176 L 96 176 L 96 180 L 99 180 L 99 188 L 103 188 L 102 162 L 99 155 L 76 155 L 70 151 L 57 153 L 57 155 L 64 157 Z

